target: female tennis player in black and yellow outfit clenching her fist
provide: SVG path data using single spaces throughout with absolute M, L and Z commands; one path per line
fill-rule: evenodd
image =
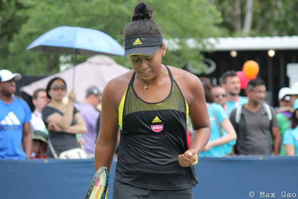
M 133 70 L 104 89 L 95 169 L 110 169 L 120 125 L 113 199 L 192 199 L 193 165 L 210 136 L 204 89 L 191 73 L 162 64 L 166 46 L 151 17 L 139 3 L 124 30 L 124 57 Z M 189 114 L 195 130 L 190 149 Z

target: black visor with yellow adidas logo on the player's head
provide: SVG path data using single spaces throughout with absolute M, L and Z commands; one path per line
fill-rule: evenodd
M 163 43 L 162 36 L 156 35 L 136 35 L 125 38 L 124 58 L 130 55 L 154 55 L 157 48 Z

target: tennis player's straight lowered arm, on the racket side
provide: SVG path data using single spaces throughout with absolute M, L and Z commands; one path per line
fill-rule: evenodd
M 114 79 L 107 83 L 103 91 L 101 126 L 95 147 L 95 171 L 102 166 L 110 170 L 112 165 L 118 136 L 119 94 L 119 80 Z

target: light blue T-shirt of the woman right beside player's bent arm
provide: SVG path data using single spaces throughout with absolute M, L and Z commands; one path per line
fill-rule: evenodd
M 210 139 L 209 141 L 216 140 L 221 137 L 220 131 L 218 129 L 218 126 L 216 124 L 216 120 L 214 117 L 214 111 L 216 114 L 216 118 L 219 123 L 221 123 L 224 119 L 228 118 L 228 114 L 226 111 L 222 108 L 221 105 L 212 103 L 208 107 L 208 113 L 209 113 L 209 118 L 210 118 L 210 124 L 211 124 L 211 134 L 210 134 Z M 200 157 L 224 157 L 226 155 L 225 152 L 225 146 L 220 145 L 211 148 L 209 151 L 201 152 Z

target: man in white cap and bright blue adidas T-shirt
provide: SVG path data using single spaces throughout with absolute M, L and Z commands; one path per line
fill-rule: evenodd
M 31 111 L 25 101 L 14 96 L 15 80 L 20 79 L 19 73 L 0 70 L 0 159 L 25 159 L 31 154 Z

